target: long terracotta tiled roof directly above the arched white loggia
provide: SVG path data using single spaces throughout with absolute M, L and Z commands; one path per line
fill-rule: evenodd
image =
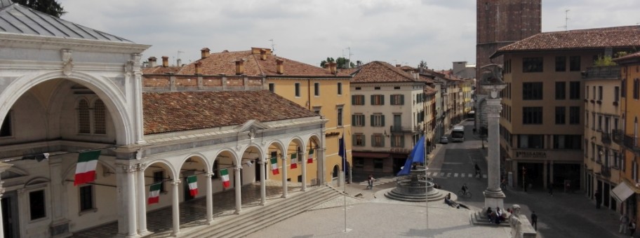
M 142 109 L 145 134 L 317 116 L 269 90 L 145 92 Z

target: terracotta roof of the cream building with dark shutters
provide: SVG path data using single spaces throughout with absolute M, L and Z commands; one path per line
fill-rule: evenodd
M 400 67 L 386 62 L 374 61 L 360 66 L 351 83 L 399 83 L 414 82 L 410 73 L 402 71 Z

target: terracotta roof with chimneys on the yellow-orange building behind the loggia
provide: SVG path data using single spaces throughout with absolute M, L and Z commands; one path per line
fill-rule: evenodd
M 255 48 L 260 50 L 260 48 Z M 260 59 L 260 52 L 254 53 L 253 50 L 232 51 L 224 50 L 218 53 L 211 53 L 204 59 L 198 59 L 195 62 L 183 66 L 176 74 L 194 74 L 196 72 L 196 62 L 201 63 L 202 74 L 218 75 L 224 73 L 228 76 L 236 75 L 236 60 L 244 60 L 244 74 L 246 76 L 302 76 L 302 77 L 349 77 L 348 73 L 338 72 L 337 75 L 332 74 L 328 69 L 322 69 L 319 66 L 297 62 L 292 59 L 286 59 L 272 55 L 268 50 L 267 59 Z M 284 73 L 277 73 L 276 59 L 284 61 Z

